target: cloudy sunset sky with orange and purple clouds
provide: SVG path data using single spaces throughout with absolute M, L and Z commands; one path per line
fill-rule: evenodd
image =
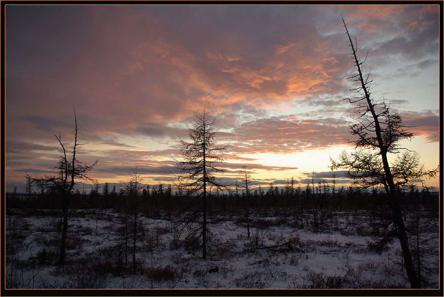
M 348 182 L 330 157 L 353 149 L 356 74 L 341 14 L 385 100 L 440 163 L 439 5 L 6 5 L 4 183 L 57 174 L 54 135 L 99 184 L 172 183 L 173 157 L 203 109 L 227 144 L 221 180 Z M 91 184 L 91 183 L 89 183 Z M 426 181 L 439 186 L 439 179 Z

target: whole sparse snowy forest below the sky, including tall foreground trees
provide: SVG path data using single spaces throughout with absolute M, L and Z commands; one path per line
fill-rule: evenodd
M 223 184 L 227 147 L 203 110 L 189 141 L 180 140 L 170 184 L 148 185 L 135 165 L 126 184 L 100 185 L 87 176 L 97 164 L 77 159 L 74 112 L 71 156 L 55 136 L 60 174 L 26 175 L 27 193 L 5 196 L 5 288 L 439 289 L 439 194 L 418 186 L 439 168 L 401 152 L 412 134 L 370 98 L 370 76 L 345 30 L 358 119 L 355 150 L 332 159 L 331 179 L 262 188 L 239 164 L 237 182 Z M 350 186 L 336 184 L 336 169 Z M 76 186 L 85 180 L 90 191 Z

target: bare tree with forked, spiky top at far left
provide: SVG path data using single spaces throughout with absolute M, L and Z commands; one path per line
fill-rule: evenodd
M 59 174 L 57 176 L 47 176 L 44 178 L 33 178 L 26 175 L 26 178 L 30 179 L 33 183 L 36 183 L 41 189 L 54 189 L 59 195 L 61 199 L 62 206 L 62 219 L 63 219 L 63 227 L 62 227 L 62 239 L 60 242 L 60 255 L 59 255 L 59 264 L 65 263 L 65 250 L 66 250 L 66 236 L 68 231 L 68 210 L 71 200 L 71 194 L 76 185 L 76 180 L 90 180 L 91 178 L 87 176 L 88 172 L 91 172 L 94 169 L 94 166 L 97 164 L 97 160 L 92 163 L 83 163 L 77 159 L 77 153 L 79 151 L 79 146 L 82 146 L 77 140 L 77 116 L 75 115 L 74 109 L 74 121 L 75 121 L 75 133 L 74 135 L 74 144 L 71 147 L 72 155 L 69 157 L 67 149 L 62 142 L 62 135 L 58 136 L 54 134 L 55 138 L 59 142 L 63 155 L 59 158 L 59 162 L 56 168 L 59 170 Z

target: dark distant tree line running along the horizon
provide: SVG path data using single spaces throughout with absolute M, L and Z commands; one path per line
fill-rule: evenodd
M 314 189 L 314 191 L 313 191 Z M 249 188 L 249 209 L 255 213 L 273 215 L 293 215 L 297 212 L 315 212 L 321 210 L 341 211 L 350 209 L 372 210 L 384 204 L 385 189 L 382 186 L 362 188 L 360 186 L 328 185 L 326 181 L 317 184 L 261 186 Z M 245 187 L 230 186 L 226 189 L 210 190 L 208 212 L 210 214 L 239 215 L 245 211 L 247 196 Z M 439 193 L 431 187 L 410 185 L 399 190 L 403 208 L 411 208 L 416 203 L 430 211 L 439 211 Z M 127 186 L 110 185 L 94 186 L 89 191 L 72 194 L 71 208 L 111 208 L 122 212 L 134 201 L 133 193 Z M 133 197 L 134 198 L 134 197 Z M 172 184 L 143 185 L 136 196 L 141 212 L 152 218 L 168 219 L 189 208 L 193 197 L 186 195 L 183 189 Z M 54 209 L 61 207 L 60 197 L 55 190 L 18 194 L 6 193 L 6 207 Z

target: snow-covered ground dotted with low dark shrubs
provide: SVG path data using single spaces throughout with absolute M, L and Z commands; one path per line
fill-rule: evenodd
M 5 216 L 5 276 L 12 288 L 100 289 L 304 289 L 409 288 L 400 246 L 370 249 L 369 216 L 364 211 L 243 218 L 209 217 L 207 259 L 200 243 L 185 243 L 186 229 L 175 222 L 139 217 L 143 232 L 132 273 L 132 241 L 119 235 L 119 214 L 73 210 L 67 263 L 55 265 L 61 237 L 57 211 L 8 210 Z M 430 224 L 430 222 L 433 222 Z M 435 224 L 435 225 L 433 225 Z M 439 287 L 438 220 L 429 221 L 422 242 L 421 277 Z M 122 241 L 123 240 L 123 241 Z M 14 251 L 14 257 L 11 257 Z M 120 251 L 120 252 L 118 252 Z M 12 258 L 12 260 L 11 260 Z M 12 264 L 12 266 L 11 266 Z

